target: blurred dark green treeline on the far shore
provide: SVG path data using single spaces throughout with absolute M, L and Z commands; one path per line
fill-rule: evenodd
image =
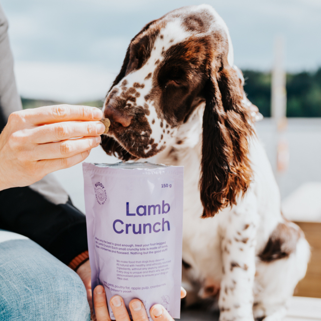
M 271 117 L 271 72 L 244 69 L 244 90 L 264 117 Z M 287 73 L 287 117 L 321 117 L 321 67 L 315 72 Z M 23 108 L 36 108 L 63 102 L 21 97 Z M 78 104 L 101 108 L 102 100 Z

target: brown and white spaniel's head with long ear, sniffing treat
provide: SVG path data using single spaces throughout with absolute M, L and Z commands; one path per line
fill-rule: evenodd
M 206 101 L 200 191 L 203 216 L 212 216 L 250 182 L 243 98 L 225 23 L 209 5 L 183 7 L 132 39 L 105 100 L 111 126 L 101 145 L 123 160 L 151 157 Z

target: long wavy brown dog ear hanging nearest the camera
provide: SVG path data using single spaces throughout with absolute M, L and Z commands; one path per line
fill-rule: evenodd
M 203 217 L 211 217 L 236 204 L 250 184 L 248 138 L 252 127 L 237 72 L 230 65 L 222 63 L 217 71 L 211 70 L 204 93 L 200 192 Z

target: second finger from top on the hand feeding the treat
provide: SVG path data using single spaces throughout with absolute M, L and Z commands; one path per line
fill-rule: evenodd
M 105 131 L 105 125 L 100 121 L 61 122 L 37 126 L 30 130 L 30 141 L 38 144 L 51 143 L 74 137 L 97 136 Z

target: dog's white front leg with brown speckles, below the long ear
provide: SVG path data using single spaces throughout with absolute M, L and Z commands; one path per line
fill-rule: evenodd
M 254 202 L 248 202 L 252 199 Z M 257 215 L 255 199 L 233 206 L 221 229 L 220 321 L 253 321 L 253 282 Z

